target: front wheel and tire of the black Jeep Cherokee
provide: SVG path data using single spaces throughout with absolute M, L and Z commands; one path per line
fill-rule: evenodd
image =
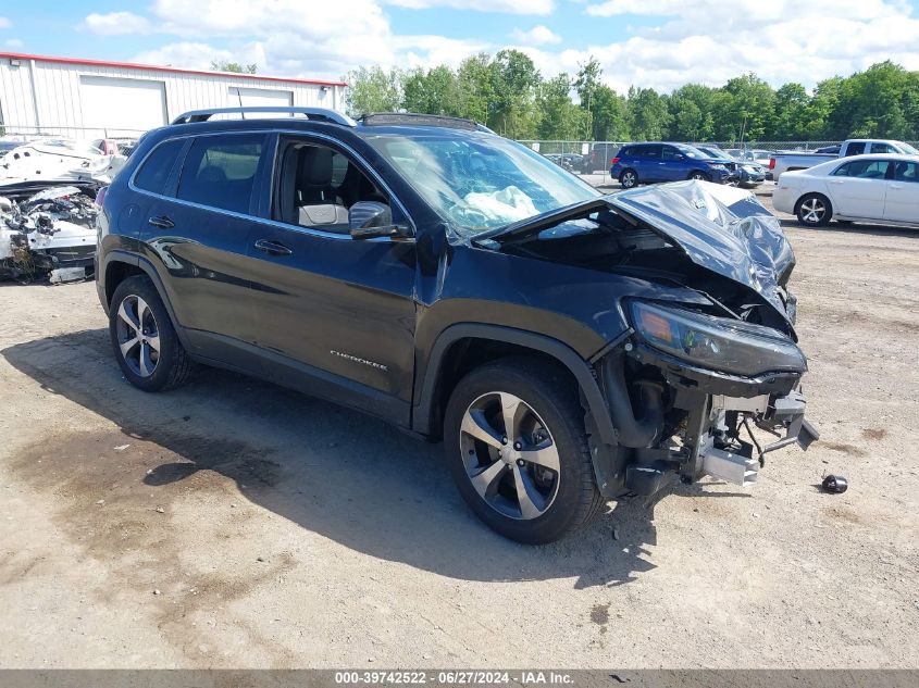
M 463 499 L 518 542 L 558 540 L 604 503 L 578 389 L 560 366 L 508 358 L 472 371 L 447 404 L 444 441 Z

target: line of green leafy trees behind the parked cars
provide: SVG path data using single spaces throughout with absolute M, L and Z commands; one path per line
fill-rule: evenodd
M 603 83 L 591 58 L 574 76 L 544 78 L 518 50 L 480 53 L 456 70 L 360 67 L 348 108 L 468 117 L 514 139 L 783 141 L 850 137 L 919 139 L 919 72 L 891 61 L 808 90 L 778 89 L 749 73 L 719 87 L 686 84 L 670 93 Z

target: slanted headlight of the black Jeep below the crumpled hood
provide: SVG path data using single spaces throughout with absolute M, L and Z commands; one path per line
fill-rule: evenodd
M 690 363 L 746 376 L 807 370 L 795 342 L 770 327 L 643 301 L 630 310 L 645 342 Z

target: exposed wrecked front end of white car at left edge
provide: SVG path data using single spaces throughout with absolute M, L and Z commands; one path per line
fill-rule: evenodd
M 0 197 L 0 278 L 51 284 L 92 276 L 95 196 L 76 186 L 51 187 L 24 201 Z

